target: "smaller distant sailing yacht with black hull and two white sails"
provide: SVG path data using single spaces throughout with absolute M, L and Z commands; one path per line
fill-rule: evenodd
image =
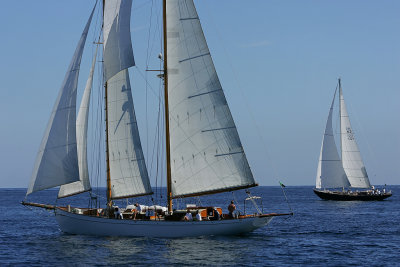
M 340 79 L 338 87 L 342 156 L 339 157 L 332 127 L 332 113 L 337 92 L 336 88 L 326 122 L 324 137 L 322 139 L 315 185 L 316 189 L 314 189 L 314 192 L 322 199 L 331 200 L 383 200 L 388 198 L 392 195 L 391 192 L 381 192 L 376 190 L 373 186 L 371 187 L 350 124 Z M 334 188 L 341 188 L 341 190 L 329 190 Z M 351 191 L 350 188 L 362 188 L 367 190 Z

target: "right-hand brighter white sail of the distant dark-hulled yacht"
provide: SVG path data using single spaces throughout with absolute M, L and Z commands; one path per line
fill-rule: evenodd
M 340 96 L 340 136 L 342 146 L 342 163 L 350 185 L 357 188 L 370 188 L 367 171 L 358 149 L 349 115 L 344 103 L 342 87 L 339 80 Z

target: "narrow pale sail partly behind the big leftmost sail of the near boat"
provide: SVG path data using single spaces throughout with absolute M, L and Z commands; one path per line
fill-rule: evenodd
M 93 84 L 93 73 L 96 66 L 96 53 L 93 57 L 92 68 L 89 78 L 83 91 L 81 106 L 79 107 L 78 118 L 76 120 L 76 143 L 78 151 L 79 181 L 62 185 L 58 192 L 58 197 L 67 197 L 90 190 L 89 170 L 87 164 L 87 130 L 89 121 L 90 94 Z

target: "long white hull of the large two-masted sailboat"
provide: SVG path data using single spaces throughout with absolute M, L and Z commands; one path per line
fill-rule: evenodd
M 60 228 L 65 233 L 97 236 L 190 237 L 235 235 L 251 232 L 267 225 L 271 216 L 220 221 L 141 221 L 117 220 L 55 211 Z

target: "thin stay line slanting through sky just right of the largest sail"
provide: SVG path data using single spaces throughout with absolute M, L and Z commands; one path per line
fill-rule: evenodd
M 223 40 L 222 40 L 222 36 L 223 36 L 223 35 L 220 34 L 219 28 L 218 28 L 218 26 L 216 25 L 216 23 L 214 22 L 214 17 L 213 17 L 213 15 L 212 15 L 211 10 L 210 10 L 209 8 L 207 8 L 207 9 L 208 9 L 208 15 L 211 17 L 210 21 L 211 21 L 212 24 L 214 25 L 214 27 L 212 27 L 212 28 L 213 28 L 213 29 L 216 31 L 216 33 L 217 33 L 217 36 L 218 36 L 218 38 L 219 38 L 219 40 L 220 40 L 220 43 L 221 43 L 222 48 L 223 48 L 223 51 L 224 51 L 224 53 L 225 53 L 225 57 L 227 58 L 227 62 L 229 63 L 229 66 L 230 66 L 230 68 L 231 68 L 231 70 L 232 70 L 232 72 L 233 72 L 233 79 L 236 81 L 237 87 L 238 87 L 238 89 L 239 89 L 239 91 L 240 91 L 240 93 L 241 93 L 241 95 L 242 95 L 243 100 L 244 100 L 243 102 L 245 103 L 246 108 L 247 108 L 247 111 L 248 111 L 248 113 L 249 113 L 249 115 L 250 115 L 250 117 L 251 117 L 251 120 L 252 120 L 252 122 L 253 122 L 255 128 L 256 128 L 256 131 L 255 131 L 255 132 L 257 133 L 257 136 L 258 136 L 258 138 L 259 138 L 260 141 L 261 141 L 261 145 L 262 145 L 262 147 L 264 148 L 263 151 L 264 151 L 264 153 L 265 153 L 265 157 L 266 157 L 267 161 L 269 161 L 269 162 L 272 163 L 272 164 L 271 164 L 271 168 L 272 168 L 272 170 L 273 170 L 273 172 L 274 172 L 275 177 L 278 177 L 278 172 L 277 172 L 277 170 L 276 170 L 276 164 L 274 163 L 274 161 L 272 160 L 272 158 L 270 157 L 270 155 L 269 155 L 269 153 L 268 153 L 268 149 L 267 149 L 267 146 L 266 146 L 266 144 L 265 144 L 264 138 L 263 138 L 262 135 L 261 135 L 260 127 L 258 126 L 258 124 L 257 124 L 257 122 L 256 122 L 256 119 L 255 119 L 255 116 L 254 116 L 254 114 L 253 114 L 253 112 L 252 112 L 252 110 L 251 110 L 251 108 L 250 108 L 251 106 L 250 106 L 250 104 L 249 104 L 249 102 L 248 102 L 248 99 L 247 99 L 247 97 L 246 97 L 246 94 L 244 93 L 243 86 L 241 85 L 241 83 L 240 83 L 240 81 L 239 81 L 239 79 L 238 79 L 239 76 L 237 75 L 237 72 L 235 71 L 234 66 L 233 66 L 233 64 L 232 64 L 232 61 L 230 60 L 232 57 L 229 57 L 228 51 L 227 51 L 227 49 L 226 49 L 226 47 L 225 47 L 225 45 L 224 45 L 224 42 L 223 42 Z M 276 179 L 277 179 L 277 178 L 276 178 Z

